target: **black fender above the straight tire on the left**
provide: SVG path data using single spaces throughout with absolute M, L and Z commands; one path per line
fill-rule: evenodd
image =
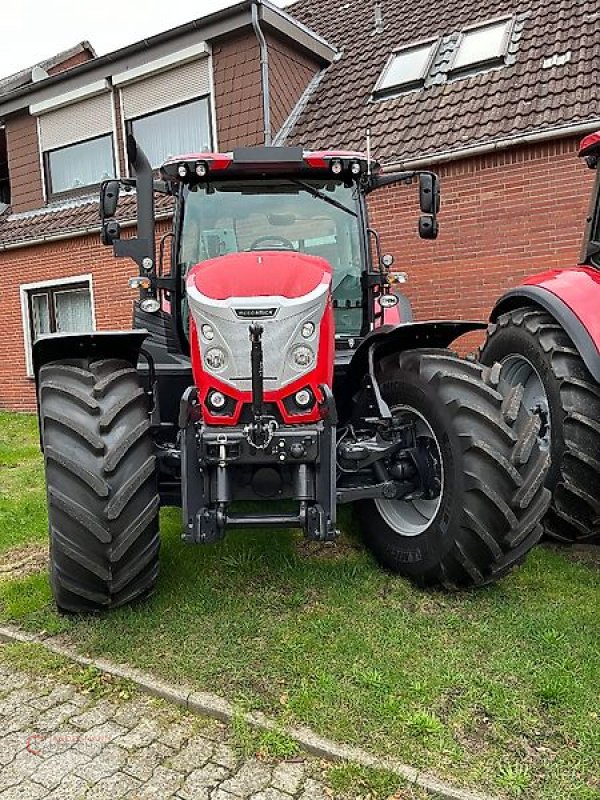
M 136 367 L 148 331 L 98 331 L 93 333 L 51 333 L 33 343 L 33 372 L 36 385 L 44 364 L 64 358 L 123 358 Z

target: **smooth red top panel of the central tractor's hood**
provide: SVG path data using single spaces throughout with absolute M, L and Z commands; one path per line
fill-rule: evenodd
M 230 253 L 196 264 L 187 276 L 188 283 L 213 300 L 303 297 L 330 281 L 331 267 L 324 258 L 287 250 Z

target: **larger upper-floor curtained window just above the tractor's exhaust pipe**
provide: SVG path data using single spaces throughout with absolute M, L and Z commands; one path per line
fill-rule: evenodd
M 171 156 L 212 147 L 207 97 L 130 120 L 128 128 L 154 169 Z

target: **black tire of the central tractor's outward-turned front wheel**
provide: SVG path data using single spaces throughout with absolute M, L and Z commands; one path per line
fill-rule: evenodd
M 499 373 L 499 365 L 483 367 L 445 350 L 412 350 L 380 365 L 381 393 L 392 413 L 414 410 L 437 440 L 442 488 L 420 532 L 392 527 L 390 512 L 387 519 L 382 513 L 382 502 L 403 501 L 360 501 L 357 511 L 379 563 L 420 586 L 492 583 L 520 564 L 542 535 L 550 495 L 539 421 L 522 407 L 519 388 L 499 391 Z

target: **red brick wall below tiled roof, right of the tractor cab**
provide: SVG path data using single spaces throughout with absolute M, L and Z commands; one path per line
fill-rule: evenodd
M 416 319 L 486 319 L 525 276 L 577 262 L 593 182 L 577 147 L 565 139 L 440 165 L 435 242 L 416 233 L 416 185 L 372 195 L 371 224 L 409 274 Z

